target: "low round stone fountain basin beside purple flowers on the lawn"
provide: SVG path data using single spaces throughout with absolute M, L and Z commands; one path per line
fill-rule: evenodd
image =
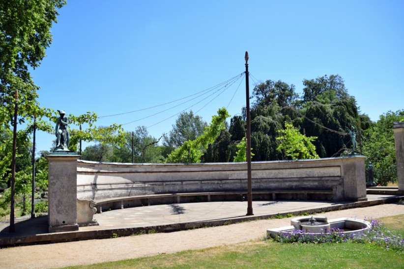
M 308 216 L 293 218 L 291 221 L 292 225 L 290 226 L 268 229 L 266 232 L 267 237 L 275 238 L 281 233 L 292 233 L 296 230 L 302 230 L 311 235 L 319 235 L 322 233 L 328 233 L 333 229 L 340 229 L 344 235 L 350 235 L 363 233 L 372 227 L 370 222 L 362 219 L 341 217 L 327 220 L 327 218 L 323 216 L 315 217 L 316 220 L 319 220 L 317 221 L 318 225 L 306 225 L 309 218 L 310 217 Z

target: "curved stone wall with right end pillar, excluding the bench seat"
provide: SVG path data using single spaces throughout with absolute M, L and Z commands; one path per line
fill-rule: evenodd
M 333 200 L 366 198 L 365 157 L 252 163 L 254 190 L 330 190 Z M 247 165 L 78 161 L 77 197 L 100 200 L 144 194 L 244 191 Z

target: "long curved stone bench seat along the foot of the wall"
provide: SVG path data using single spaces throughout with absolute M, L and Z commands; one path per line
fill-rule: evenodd
M 253 191 L 254 198 L 277 199 L 277 194 L 300 195 L 303 200 L 308 199 L 310 194 L 332 195 L 333 189 L 275 189 L 265 191 Z M 182 199 L 181 199 L 182 197 Z M 152 204 L 173 204 L 182 202 L 211 202 L 223 200 L 245 200 L 247 191 L 215 191 L 215 192 L 188 192 L 188 193 L 164 193 L 145 194 L 137 196 L 112 197 L 94 200 L 97 213 L 111 209 L 124 209 L 136 206 L 150 206 Z M 216 198 L 216 199 L 215 199 Z

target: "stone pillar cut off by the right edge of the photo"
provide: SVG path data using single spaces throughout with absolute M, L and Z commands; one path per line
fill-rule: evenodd
M 396 163 L 399 191 L 404 193 L 404 122 L 393 125 L 394 141 L 396 144 Z

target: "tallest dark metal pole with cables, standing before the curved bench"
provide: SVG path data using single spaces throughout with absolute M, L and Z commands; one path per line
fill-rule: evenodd
M 247 114 L 247 215 L 253 214 L 253 191 L 251 181 L 251 128 L 250 128 L 250 84 L 248 81 L 248 52 L 245 52 L 245 98 Z

